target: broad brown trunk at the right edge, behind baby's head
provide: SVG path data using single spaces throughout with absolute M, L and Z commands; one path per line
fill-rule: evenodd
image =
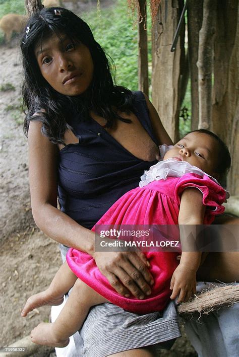
M 212 130 L 227 144 L 232 165 L 227 187 L 239 194 L 239 13 L 237 0 L 217 2 Z

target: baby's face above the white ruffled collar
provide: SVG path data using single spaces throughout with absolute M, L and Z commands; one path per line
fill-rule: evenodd
M 170 158 L 186 161 L 211 176 L 217 176 L 215 169 L 218 161 L 218 143 L 206 133 L 191 132 L 183 137 L 168 150 L 163 160 Z

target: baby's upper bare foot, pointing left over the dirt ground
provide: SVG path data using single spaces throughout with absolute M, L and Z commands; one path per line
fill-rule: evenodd
M 22 310 L 22 317 L 27 316 L 27 314 L 35 308 L 39 308 L 44 305 L 61 305 L 63 302 L 63 297 L 54 297 L 49 290 L 45 290 L 41 293 L 30 296 Z

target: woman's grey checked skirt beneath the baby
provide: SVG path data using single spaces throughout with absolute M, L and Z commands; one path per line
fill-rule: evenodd
M 61 245 L 63 261 L 68 247 Z M 74 335 L 77 355 L 105 357 L 129 349 L 155 345 L 170 349 L 180 337 L 177 314 L 171 301 L 162 312 L 138 315 L 113 304 L 91 308 L 82 329 Z

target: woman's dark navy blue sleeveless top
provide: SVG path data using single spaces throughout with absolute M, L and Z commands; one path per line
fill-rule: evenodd
M 137 91 L 134 96 L 135 114 L 158 145 L 144 95 Z M 69 144 L 59 152 L 59 203 L 63 212 L 91 229 L 118 198 L 138 186 L 144 170 L 157 161 L 138 159 L 94 119 L 74 117 L 68 124 L 79 144 Z

